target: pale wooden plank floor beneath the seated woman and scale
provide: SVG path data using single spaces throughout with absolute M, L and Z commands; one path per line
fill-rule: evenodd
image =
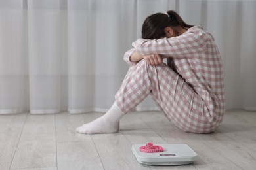
M 75 128 L 101 113 L 0 116 L 0 169 L 256 169 L 256 112 L 228 110 L 215 133 L 180 131 L 161 112 L 133 112 L 115 134 L 82 135 Z M 188 144 L 199 159 L 160 167 L 135 160 L 132 144 Z

